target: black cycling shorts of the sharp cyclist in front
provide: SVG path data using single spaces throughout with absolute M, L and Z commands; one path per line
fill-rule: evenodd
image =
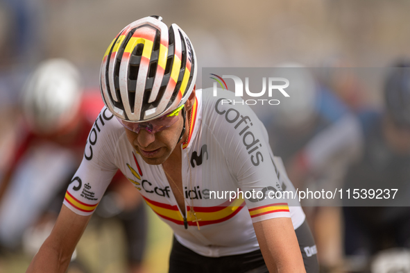
M 307 273 L 319 272 L 316 245 L 307 222 L 296 229 L 300 251 Z M 169 257 L 169 273 L 268 273 L 262 252 L 258 249 L 249 253 L 206 257 L 184 247 L 173 238 L 171 255 Z

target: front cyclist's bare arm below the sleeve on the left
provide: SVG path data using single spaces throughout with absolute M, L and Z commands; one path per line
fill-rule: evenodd
M 66 272 L 91 216 L 77 215 L 63 205 L 53 231 L 34 256 L 26 273 Z

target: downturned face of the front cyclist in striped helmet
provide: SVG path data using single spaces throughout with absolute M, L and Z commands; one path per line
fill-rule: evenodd
M 139 133 L 126 128 L 125 130 L 128 141 L 133 145 L 138 154 L 142 156 L 144 161 L 150 165 L 160 165 L 169 158 L 176 148 L 182 126 L 183 117 L 181 111 L 178 115 L 178 121 L 164 131 L 152 134 L 148 133 L 145 129 L 141 129 Z

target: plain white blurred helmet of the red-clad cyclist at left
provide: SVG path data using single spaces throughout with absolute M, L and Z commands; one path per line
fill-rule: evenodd
M 80 74 L 69 61 L 45 60 L 23 89 L 23 113 L 33 131 L 56 133 L 71 124 L 80 108 Z

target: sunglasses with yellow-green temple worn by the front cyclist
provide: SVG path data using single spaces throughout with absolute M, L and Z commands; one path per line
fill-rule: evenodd
M 184 105 L 176 108 L 176 110 L 173 110 L 169 114 L 150 120 L 149 122 L 126 122 L 119 117 L 117 117 L 117 119 L 122 126 L 135 133 L 139 133 L 141 129 L 144 129 L 148 133 L 157 133 L 175 124 L 178 121 L 178 115 L 183 108 Z

